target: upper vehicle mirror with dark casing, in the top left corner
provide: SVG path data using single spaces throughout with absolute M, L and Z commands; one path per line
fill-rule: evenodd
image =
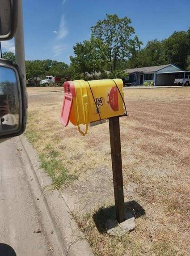
M 0 41 L 13 38 L 17 27 L 17 0 L 0 0 Z

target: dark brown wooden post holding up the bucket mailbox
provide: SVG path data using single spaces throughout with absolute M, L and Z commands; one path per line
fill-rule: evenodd
M 109 118 L 110 128 L 110 145 L 111 145 L 111 161 L 114 179 L 114 197 L 116 219 L 118 223 L 125 220 L 125 206 L 123 195 L 123 180 L 122 180 L 122 154 L 121 154 L 121 139 L 119 128 L 119 117 Z

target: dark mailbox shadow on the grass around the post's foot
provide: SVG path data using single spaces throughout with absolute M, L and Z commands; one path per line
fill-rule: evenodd
M 130 212 L 135 218 L 139 218 L 145 214 L 144 208 L 136 201 L 126 202 L 125 210 L 126 212 Z M 115 220 L 115 218 L 115 205 L 111 205 L 109 207 L 101 207 L 96 213 L 93 214 L 94 223 L 100 233 L 106 233 L 106 231 L 110 229 L 110 227 L 106 225 L 107 222 L 109 222 L 109 220 Z M 118 223 L 115 222 L 114 226 L 117 225 Z

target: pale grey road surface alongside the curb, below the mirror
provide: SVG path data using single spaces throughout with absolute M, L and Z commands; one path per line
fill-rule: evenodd
M 19 137 L 0 141 L 0 256 L 61 255 Z

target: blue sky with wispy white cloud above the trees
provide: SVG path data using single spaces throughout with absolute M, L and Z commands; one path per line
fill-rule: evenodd
M 90 39 L 90 27 L 108 14 L 127 16 L 143 42 L 190 26 L 190 0 L 23 0 L 25 58 L 70 63 L 73 46 Z M 14 52 L 14 40 L 2 42 Z

